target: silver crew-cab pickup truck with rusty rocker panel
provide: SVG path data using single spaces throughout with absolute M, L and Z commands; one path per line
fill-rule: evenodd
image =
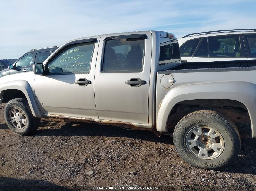
M 150 130 L 173 135 L 188 163 L 220 169 L 240 151 L 230 108 L 249 114 L 256 137 L 254 65 L 181 64 L 177 38 L 160 31 L 85 37 L 65 43 L 33 72 L 2 77 L 0 101 L 19 135 L 33 133 L 45 117 Z

